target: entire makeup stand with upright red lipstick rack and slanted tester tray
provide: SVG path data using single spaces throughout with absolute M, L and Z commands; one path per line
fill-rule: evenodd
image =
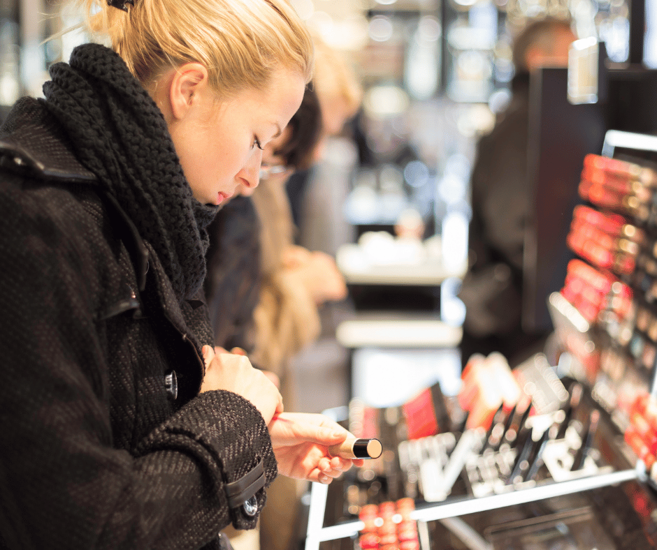
M 559 86 L 565 96 L 569 79 L 574 101 L 604 99 L 565 107 L 582 107 L 568 124 L 589 125 L 561 140 L 570 160 L 558 177 L 567 186 L 565 168 L 576 167 L 572 193 L 535 181 L 537 201 L 550 188 L 558 195 L 537 203 L 547 207 L 529 246 L 544 271 L 530 272 L 526 308 L 528 322 L 552 323 L 551 351 L 514 371 L 499 354 L 472 357 L 454 396 L 436 384 L 403 406 L 352 400 L 341 420 L 380 440 L 382 454 L 330 486 L 313 484 L 307 550 L 657 547 L 657 124 L 623 103 L 623 82 L 650 89 L 656 80 L 644 69 L 596 73 L 598 47 L 578 46 L 579 91 L 572 72 L 543 70 L 534 103 L 541 116 L 563 107 L 547 97 Z M 609 128 L 623 110 L 642 132 Z M 543 123 L 537 132 L 537 172 L 548 150 L 559 154 L 551 131 Z M 550 227 L 563 230 L 560 241 Z

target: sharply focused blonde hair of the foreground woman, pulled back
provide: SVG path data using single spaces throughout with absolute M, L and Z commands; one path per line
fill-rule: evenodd
M 220 96 L 261 89 L 281 67 L 306 82 L 312 75 L 312 39 L 287 0 L 135 0 L 127 12 L 106 0 L 77 3 L 89 31 L 108 36 L 145 86 L 189 62 L 208 69 Z

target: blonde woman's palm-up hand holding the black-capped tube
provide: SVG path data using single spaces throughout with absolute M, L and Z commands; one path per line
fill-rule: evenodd
M 269 435 L 282 475 L 329 484 L 362 460 L 331 457 L 328 448 L 351 435 L 324 415 L 282 413 L 273 417 Z

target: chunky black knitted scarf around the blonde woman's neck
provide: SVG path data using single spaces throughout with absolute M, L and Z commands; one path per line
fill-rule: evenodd
M 218 207 L 192 196 L 161 111 L 124 61 L 98 44 L 75 48 L 50 76 L 45 103 L 78 160 L 157 251 L 178 299 L 193 297 L 205 278 L 205 228 Z

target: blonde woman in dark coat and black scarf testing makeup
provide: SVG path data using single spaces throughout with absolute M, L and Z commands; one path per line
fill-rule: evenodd
M 218 548 L 347 432 L 212 342 L 206 225 L 258 184 L 312 46 L 284 0 L 87 0 L 0 128 L 0 547 Z

